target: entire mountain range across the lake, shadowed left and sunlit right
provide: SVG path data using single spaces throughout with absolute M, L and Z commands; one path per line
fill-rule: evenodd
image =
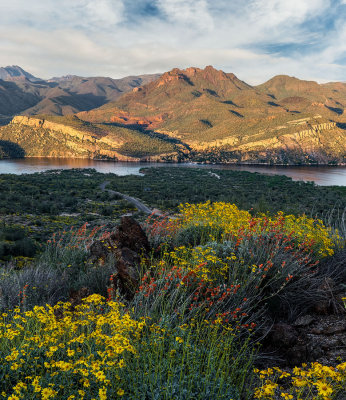
M 42 81 L 12 68 L 7 70 L 12 75 L 0 80 L 0 93 L 6 85 L 17 90 L 9 95 L 12 103 L 0 95 L 0 113 L 10 115 L 2 111 L 3 103 L 19 107 L 18 90 L 27 85 L 28 107 L 21 114 L 29 117 L 13 118 L 0 129 L 0 139 L 26 156 L 346 163 L 343 82 L 318 84 L 278 75 L 252 86 L 212 66 L 118 80 L 66 76 Z M 31 105 L 37 86 L 49 89 Z M 19 98 L 23 107 L 20 93 Z M 100 104 L 93 106 L 97 98 Z M 82 132 L 78 140 L 76 132 Z

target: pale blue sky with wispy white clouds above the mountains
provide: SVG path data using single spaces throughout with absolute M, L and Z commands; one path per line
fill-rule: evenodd
M 0 66 L 43 79 L 213 65 L 346 81 L 346 0 L 0 0 Z

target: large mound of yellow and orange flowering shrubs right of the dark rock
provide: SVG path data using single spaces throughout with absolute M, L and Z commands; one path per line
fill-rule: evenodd
M 306 216 L 252 217 L 235 205 L 209 202 L 183 205 L 178 219 L 156 219 L 147 231 L 152 243 L 166 239 L 169 245 L 161 246 L 163 255 L 143 277 L 139 308 L 153 318 L 172 318 L 172 308 L 186 319 L 222 315 L 239 330 L 256 326 L 264 306 L 289 302 L 289 294 L 315 277 L 321 285 L 318 263 L 344 240 Z M 186 244 L 169 250 L 177 238 Z M 308 293 L 300 290 L 301 297 Z

